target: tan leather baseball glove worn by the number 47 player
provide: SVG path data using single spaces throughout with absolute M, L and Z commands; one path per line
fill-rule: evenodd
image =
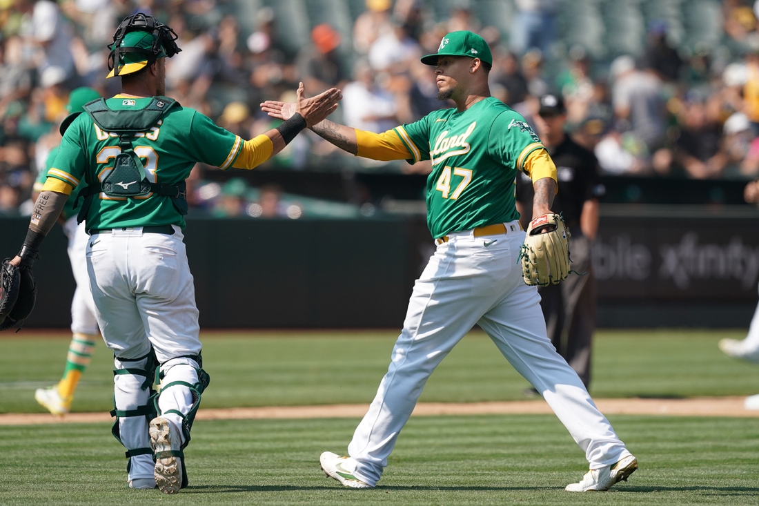
M 540 233 L 545 229 L 546 232 Z M 543 214 L 530 222 L 519 252 L 524 283 L 546 286 L 569 275 L 569 230 L 558 214 Z

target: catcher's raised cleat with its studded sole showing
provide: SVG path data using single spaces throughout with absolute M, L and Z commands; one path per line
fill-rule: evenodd
M 164 494 L 176 494 L 182 485 L 182 460 L 174 454 L 181 447 L 179 430 L 172 422 L 159 416 L 150 420 L 148 432 L 150 446 L 156 453 L 156 486 Z

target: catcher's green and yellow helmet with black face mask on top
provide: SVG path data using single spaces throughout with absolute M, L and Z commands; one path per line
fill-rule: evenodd
M 133 74 L 159 58 L 171 58 L 181 51 L 177 38 L 174 30 L 149 14 L 138 12 L 124 18 L 108 46 L 108 77 Z

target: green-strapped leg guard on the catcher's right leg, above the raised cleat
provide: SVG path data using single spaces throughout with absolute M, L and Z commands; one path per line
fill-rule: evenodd
M 203 371 L 203 359 L 197 356 L 181 356 L 168 359 L 160 366 L 158 375 L 160 390 L 153 397 L 156 416 L 168 419 L 180 429 L 182 444 L 179 451 L 159 452 L 156 458 L 181 457 L 182 484 L 187 486 L 187 471 L 184 468 L 184 448 L 190 443 L 190 431 L 195 413 L 200 406 L 200 397 L 208 387 L 210 377 Z M 165 455 L 168 454 L 168 455 Z

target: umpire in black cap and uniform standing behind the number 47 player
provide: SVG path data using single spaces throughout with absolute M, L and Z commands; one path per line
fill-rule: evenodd
M 538 292 L 548 337 L 585 387 L 589 387 L 591 340 L 596 327 L 596 277 L 591 264 L 591 244 L 598 230 L 598 201 L 606 188 L 600 182 L 598 160 L 566 134 L 566 120 L 560 96 L 540 98 L 540 111 L 534 121 L 540 141 L 556 163 L 559 179 L 553 210 L 562 214 L 572 232 L 572 269 L 587 274 L 570 276 L 558 285 L 543 286 Z M 521 176 L 516 186 L 518 210 L 522 217 L 530 217 L 531 182 Z

